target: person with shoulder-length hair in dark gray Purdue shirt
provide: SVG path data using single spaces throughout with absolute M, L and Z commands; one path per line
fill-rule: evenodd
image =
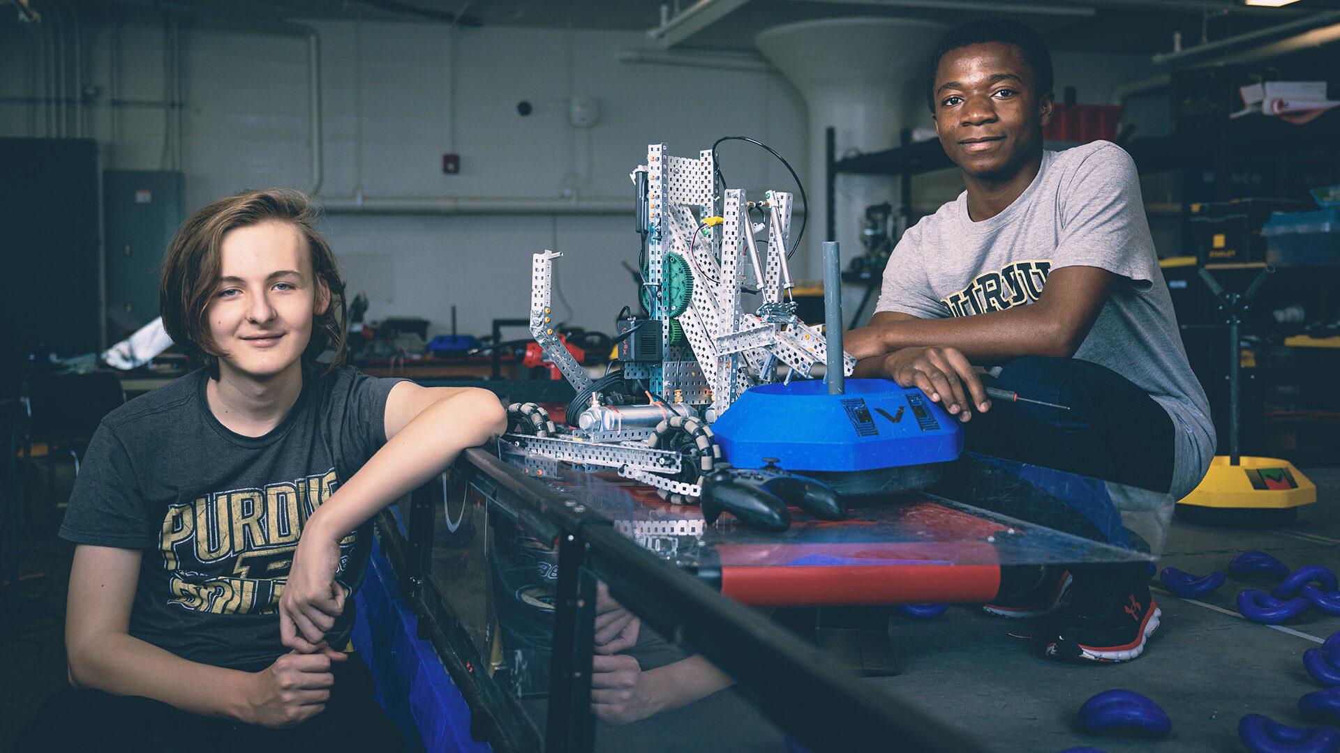
M 403 748 L 346 653 L 367 521 L 505 411 L 340 366 L 344 284 L 316 217 L 296 192 L 247 192 L 173 240 L 163 323 L 202 368 L 92 438 L 60 529 L 71 687 L 16 750 Z

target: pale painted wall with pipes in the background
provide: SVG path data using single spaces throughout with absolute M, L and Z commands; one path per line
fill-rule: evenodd
M 72 27 L 67 16 L 68 39 Z M 180 169 L 188 212 L 244 188 L 311 188 L 303 36 L 182 17 L 178 161 L 157 105 L 170 38 L 162 16 L 79 19 L 83 83 L 96 94 L 78 117 L 74 106 L 52 118 L 47 105 L 20 100 L 59 94 L 60 80 L 74 94 L 72 44 L 63 48 L 67 76 L 44 75 L 44 62 L 60 51 L 54 28 L 20 25 L 12 13 L 0 19 L 0 135 L 84 135 L 98 139 L 109 169 Z M 355 21 L 315 28 L 319 197 L 350 200 L 360 190 L 368 198 L 627 201 L 623 214 L 332 212 L 326 232 L 350 291 L 368 295 L 371 319 L 419 316 L 437 334 L 449 328 L 456 305 L 461 332 L 486 332 L 494 318 L 528 314 L 531 255 L 553 248 L 565 253 L 556 264 L 559 316 L 610 331 L 619 308 L 634 303 L 620 267 L 635 263 L 638 251 L 628 173 L 645 161 L 649 142 L 679 155 L 695 155 L 721 135 L 770 145 L 805 181 L 815 208 L 807 237 L 823 233 L 823 176 L 805 174 L 804 103 L 780 74 L 618 62 L 618 48 L 646 44 L 638 32 Z M 1056 58 L 1057 88 L 1076 86 L 1080 102 L 1107 102 L 1114 86 L 1152 72 L 1139 56 Z M 572 96 L 599 100 L 595 126 L 568 123 Z M 529 117 L 517 114 L 521 100 L 533 106 Z M 444 153 L 461 155 L 460 174 L 442 174 Z M 722 143 L 720 163 L 732 186 L 752 194 L 795 190 L 785 169 L 752 145 Z M 953 173 L 918 178 L 915 204 L 933 206 L 961 188 Z

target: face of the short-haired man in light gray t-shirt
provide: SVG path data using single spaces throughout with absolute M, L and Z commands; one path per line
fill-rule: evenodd
M 1008 184 L 1029 167 L 1026 181 L 1037 174 L 1052 94 L 1036 91 L 1017 47 L 990 42 L 946 52 L 933 96 L 935 133 L 965 180 Z

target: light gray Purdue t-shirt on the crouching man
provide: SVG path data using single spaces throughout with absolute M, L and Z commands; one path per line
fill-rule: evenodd
M 1178 335 L 1135 162 L 1119 146 L 1044 151 L 1032 185 L 989 220 L 967 217 L 967 192 L 922 218 L 890 256 L 875 310 L 922 319 L 1001 311 L 1037 300 L 1061 267 L 1120 276 L 1075 358 L 1116 371 L 1168 411 L 1171 492 L 1186 496 L 1214 457 L 1214 427 Z

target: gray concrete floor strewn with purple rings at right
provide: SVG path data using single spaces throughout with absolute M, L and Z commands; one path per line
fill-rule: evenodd
M 1235 555 L 1258 549 L 1290 568 L 1321 564 L 1340 572 L 1340 469 L 1304 469 L 1317 485 L 1317 504 L 1277 528 L 1217 528 L 1174 519 L 1159 567 L 1205 575 L 1226 571 Z M 1156 581 L 1155 581 L 1156 583 Z M 1012 638 L 1020 622 L 953 607 L 926 622 L 896 619 L 891 636 L 902 674 L 875 682 L 957 725 L 992 749 L 1055 753 L 1093 746 L 1127 750 L 1241 752 L 1238 721 L 1261 713 L 1292 726 L 1298 697 L 1321 690 L 1302 669 L 1302 653 L 1340 630 L 1340 618 L 1316 610 L 1264 626 L 1237 612 L 1244 588 L 1269 590 L 1277 579 L 1230 577 L 1194 600 L 1158 587 L 1163 622 L 1143 657 L 1119 665 L 1075 665 L 1044 659 L 1026 640 Z M 1079 707 L 1096 693 L 1127 689 L 1159 703 L 1172 721 L 1162 740 L 1122 733 L 1087 734 Z

